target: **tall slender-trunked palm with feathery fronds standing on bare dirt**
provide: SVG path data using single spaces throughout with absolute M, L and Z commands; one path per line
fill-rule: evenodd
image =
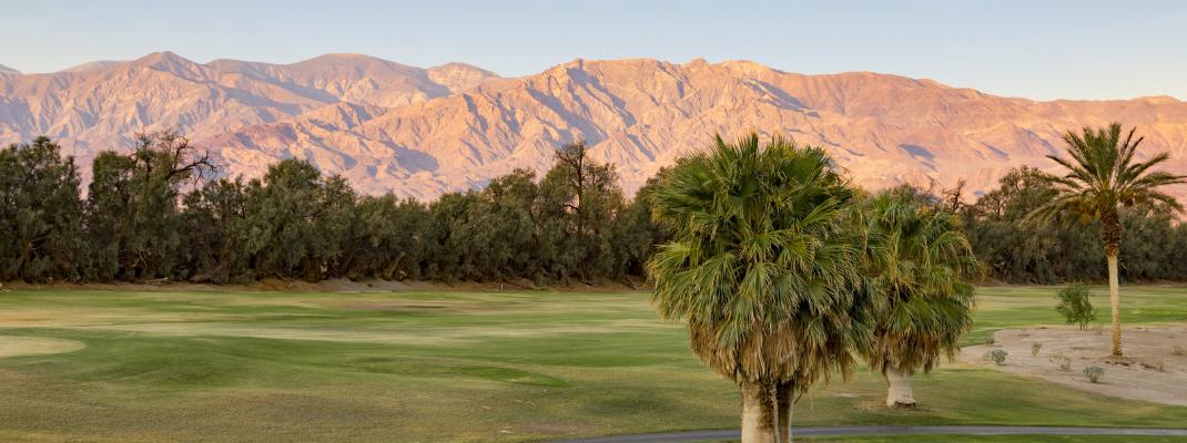
M 1144 137 L 1134 139 L 1137 128 L 1130 129 L 1124 140 L 1121 123 L 1107 128 L 1085 127 L 1083 134 L 1067 131 L 1067 154 L 1071 159 L 1048 155 L 1067 169 L 1065 175 L 1046 175 L 1055 190 L 1055 198 L 1032 212 L 1028 219 L 1054 219 L 1078 216 L 1081 220 L 1100 220 L 1100 239 L 1109 261 L 1109 304 L 1112 308 L 1112 354 L 1122 357 L 1121 297 L 1117 289 L 1117 252 L 1121 250 L 1121 218 L 1123 206 L 1151 205 L 1182 211 L 1179 201 L 1159 188 L 1182 184 L 1187 175 L 1151 171 L 1170 155 L 1159 153 L 1149 160 L 1134 159 Z

